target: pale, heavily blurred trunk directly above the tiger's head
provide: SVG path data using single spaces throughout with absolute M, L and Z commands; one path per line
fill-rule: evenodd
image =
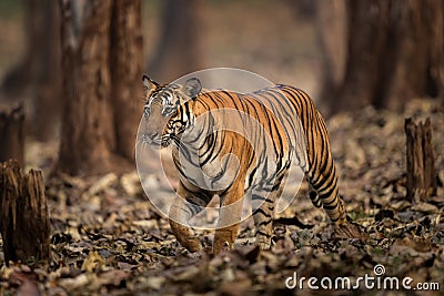
M 204 1 L 167 0 L 161 41 L 149 65 L 149 76 L 168 83 L 204 64 Z

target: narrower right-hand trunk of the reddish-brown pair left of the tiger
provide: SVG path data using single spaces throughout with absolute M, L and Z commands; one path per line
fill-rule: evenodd
M 111 25 L 111 81 L 117 151 L 134 159 L 141 112 L 143 42 L 140 0 L 115 0 Z

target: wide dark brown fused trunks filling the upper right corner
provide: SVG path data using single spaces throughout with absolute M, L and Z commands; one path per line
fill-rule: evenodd
M 336 90 L 323 92 L 333 111 L 369 104 L 401 110 L 412 98 L 444 95 L 443 1 L 343 1 L 345 75 Z

